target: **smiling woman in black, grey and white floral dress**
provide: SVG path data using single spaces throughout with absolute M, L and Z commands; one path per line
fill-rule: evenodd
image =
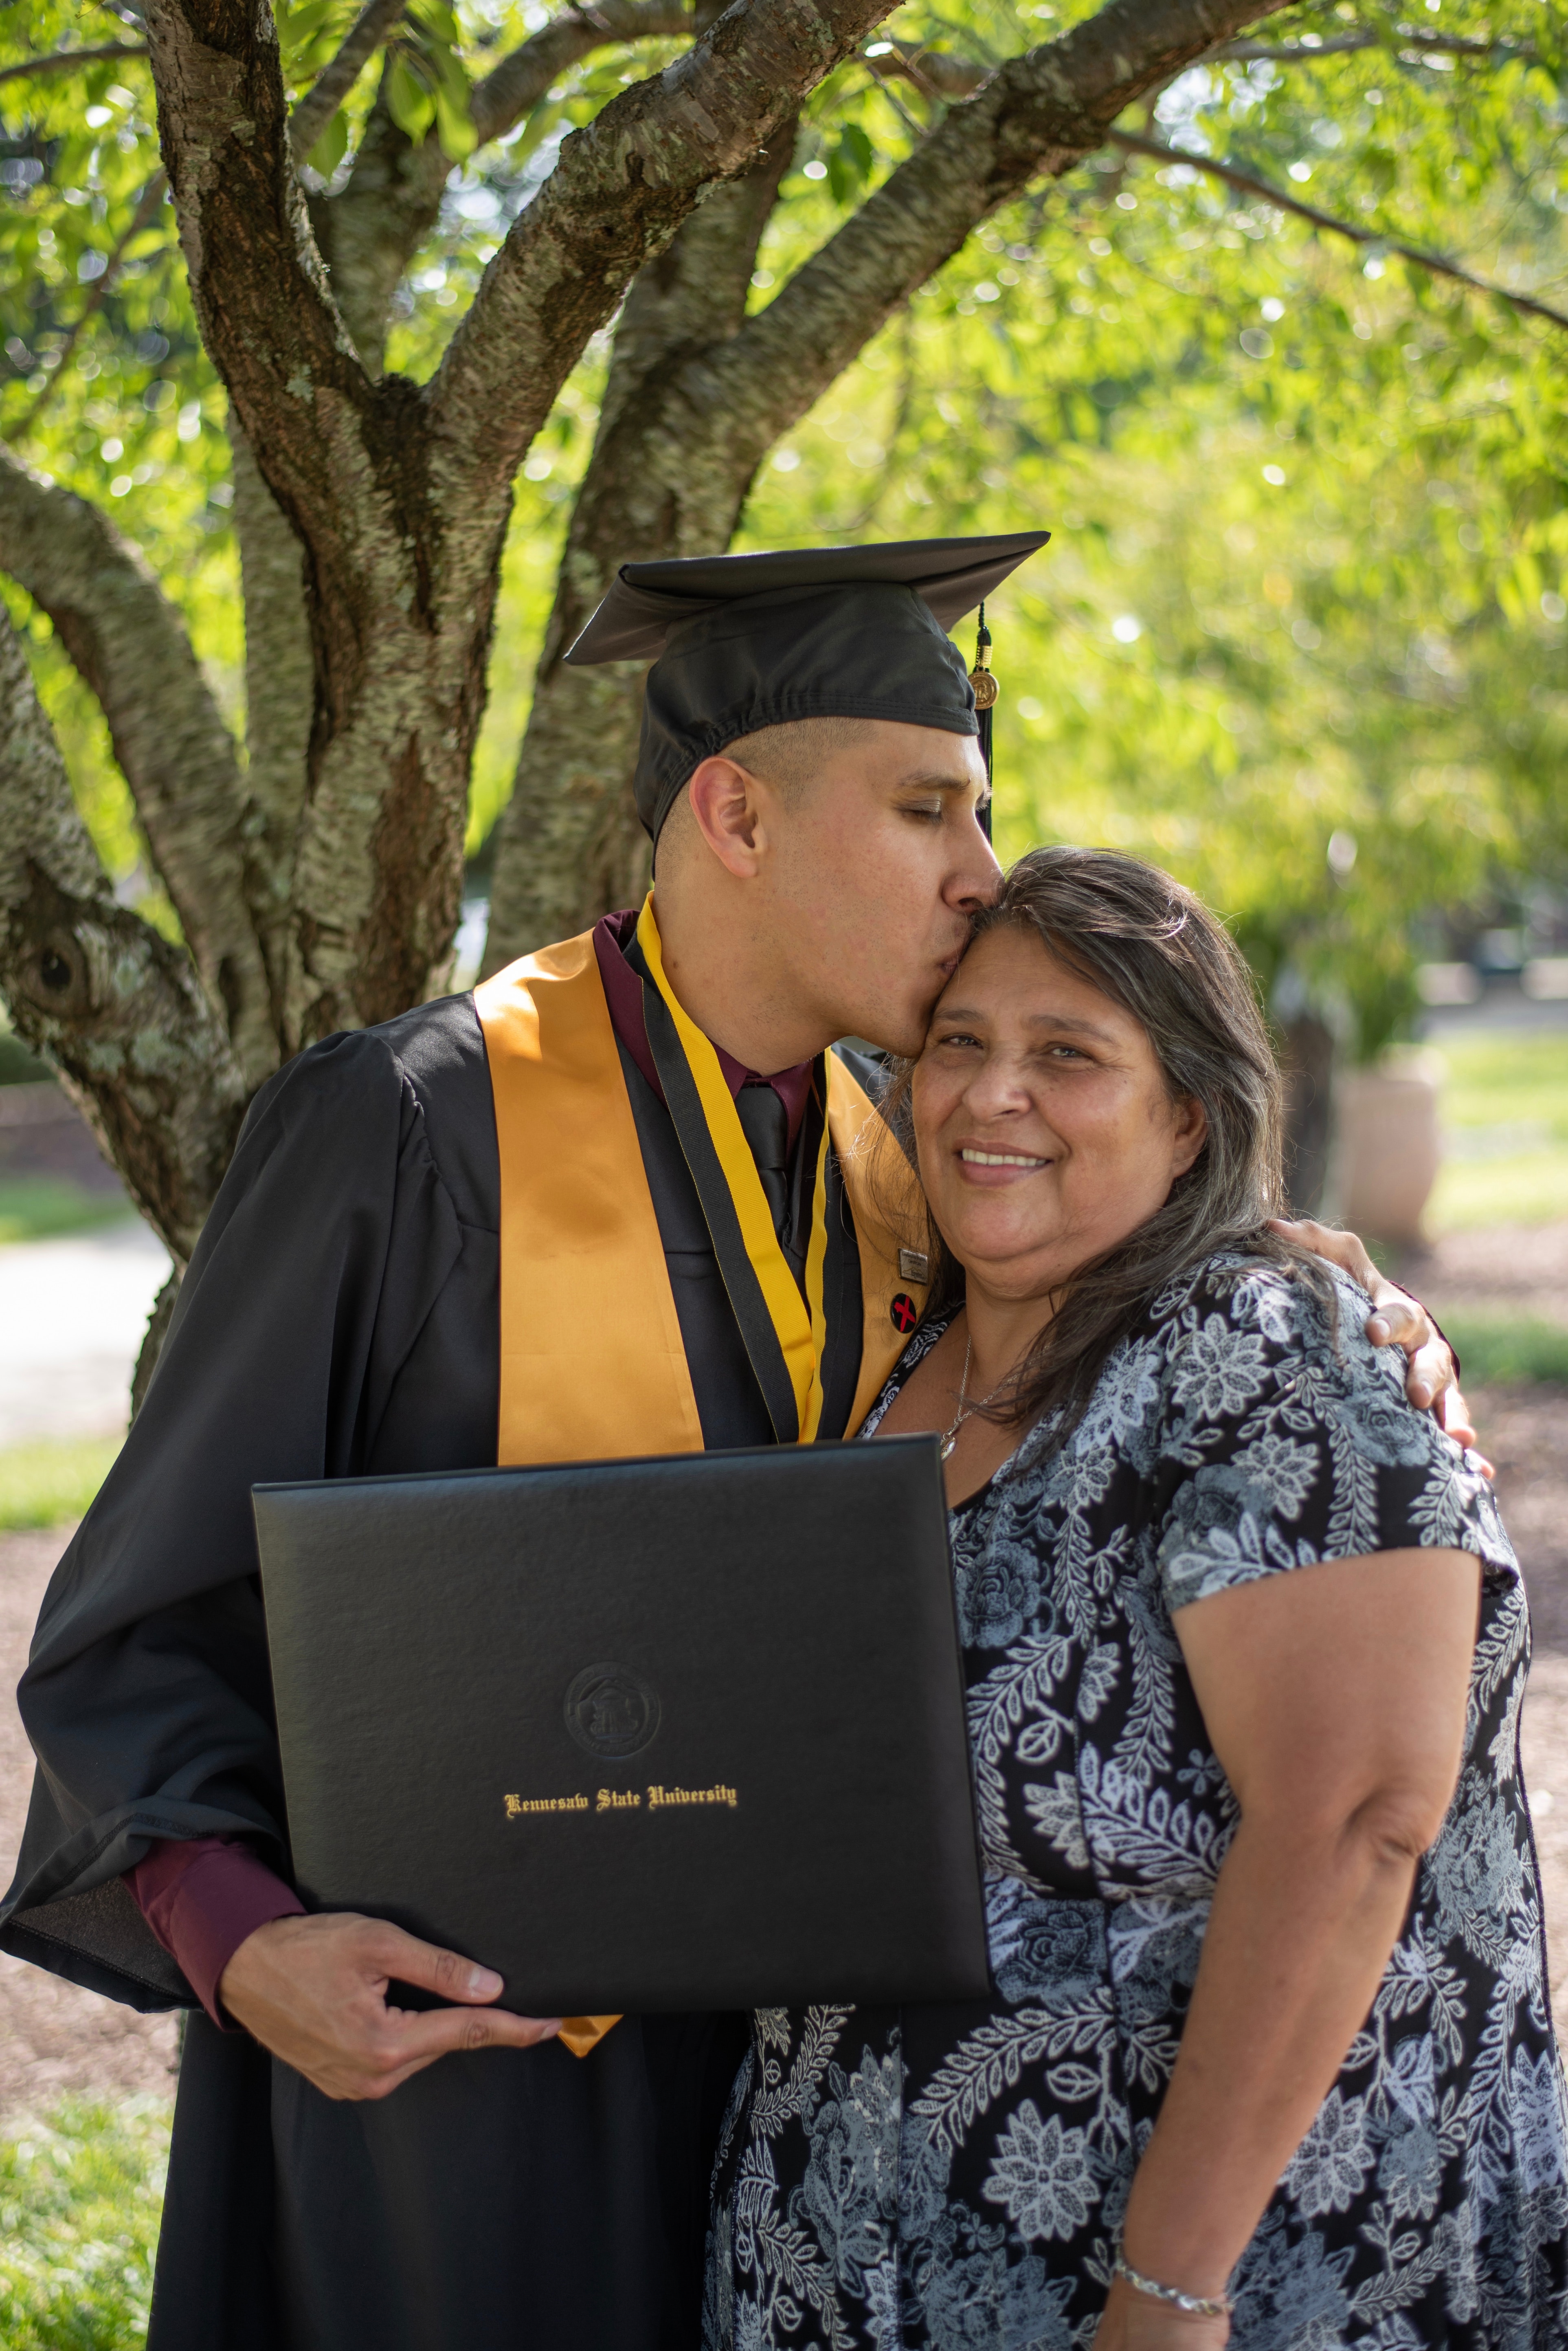
M 1556 2351 L 1519 1568 L 1267 1230 L 1234 947 L 1025 858 L 898 1103 L 938 1281 L 865 1434 L 947 1446 L 994 1998 L 757 2015 L 708 2351 Z

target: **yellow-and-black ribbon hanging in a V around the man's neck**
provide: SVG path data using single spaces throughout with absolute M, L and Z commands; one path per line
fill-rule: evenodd
M 773 1232 L 757 1161 L 719 1056 L 665 978 L 654 893 L 637 917 L 637 945 L 654 985 L 642 985 L 649 1051 L 691 1180 L 696 1183 L 729 1302 L 780 1446 L 811 1444 L 823 1420 L 823 1302 L 827 1262 L 827 1121 L 816 1152 L 806 1295 Z M 823 1070 L 818 1065 L 818 1086 Z

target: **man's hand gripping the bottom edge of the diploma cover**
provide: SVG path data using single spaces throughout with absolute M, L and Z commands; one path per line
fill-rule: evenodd
M 390 2008 L 393 1980 L 475 2005 Z M 489 1968 L 355 1911 L 270 1918 L 219 1977 L 235 2024 L 327 2097 L 388 2097 L 449 2050 L 527 2050 L 559 2031 L 559 2017 L 489 2008 L 501 1989 Z

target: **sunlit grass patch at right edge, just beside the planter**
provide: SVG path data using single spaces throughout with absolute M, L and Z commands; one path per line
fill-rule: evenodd
M 1568 1215 L 1568 1027 L 1472 1030 L 1441 1044 L 1443 1168 L 1427 1225 L 1552 1225 Z

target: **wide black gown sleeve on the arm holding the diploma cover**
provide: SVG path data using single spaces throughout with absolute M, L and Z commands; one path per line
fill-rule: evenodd
M 254 1483 L 353 1476 L 461 1251 L 407 1067 L 331 1037 L 256 1098 L 16 1702 L 38 1754 L 0 1947 L 139 2008 L 193 1991 L 122 1871 L 244 1838 L 289 1871 Z

